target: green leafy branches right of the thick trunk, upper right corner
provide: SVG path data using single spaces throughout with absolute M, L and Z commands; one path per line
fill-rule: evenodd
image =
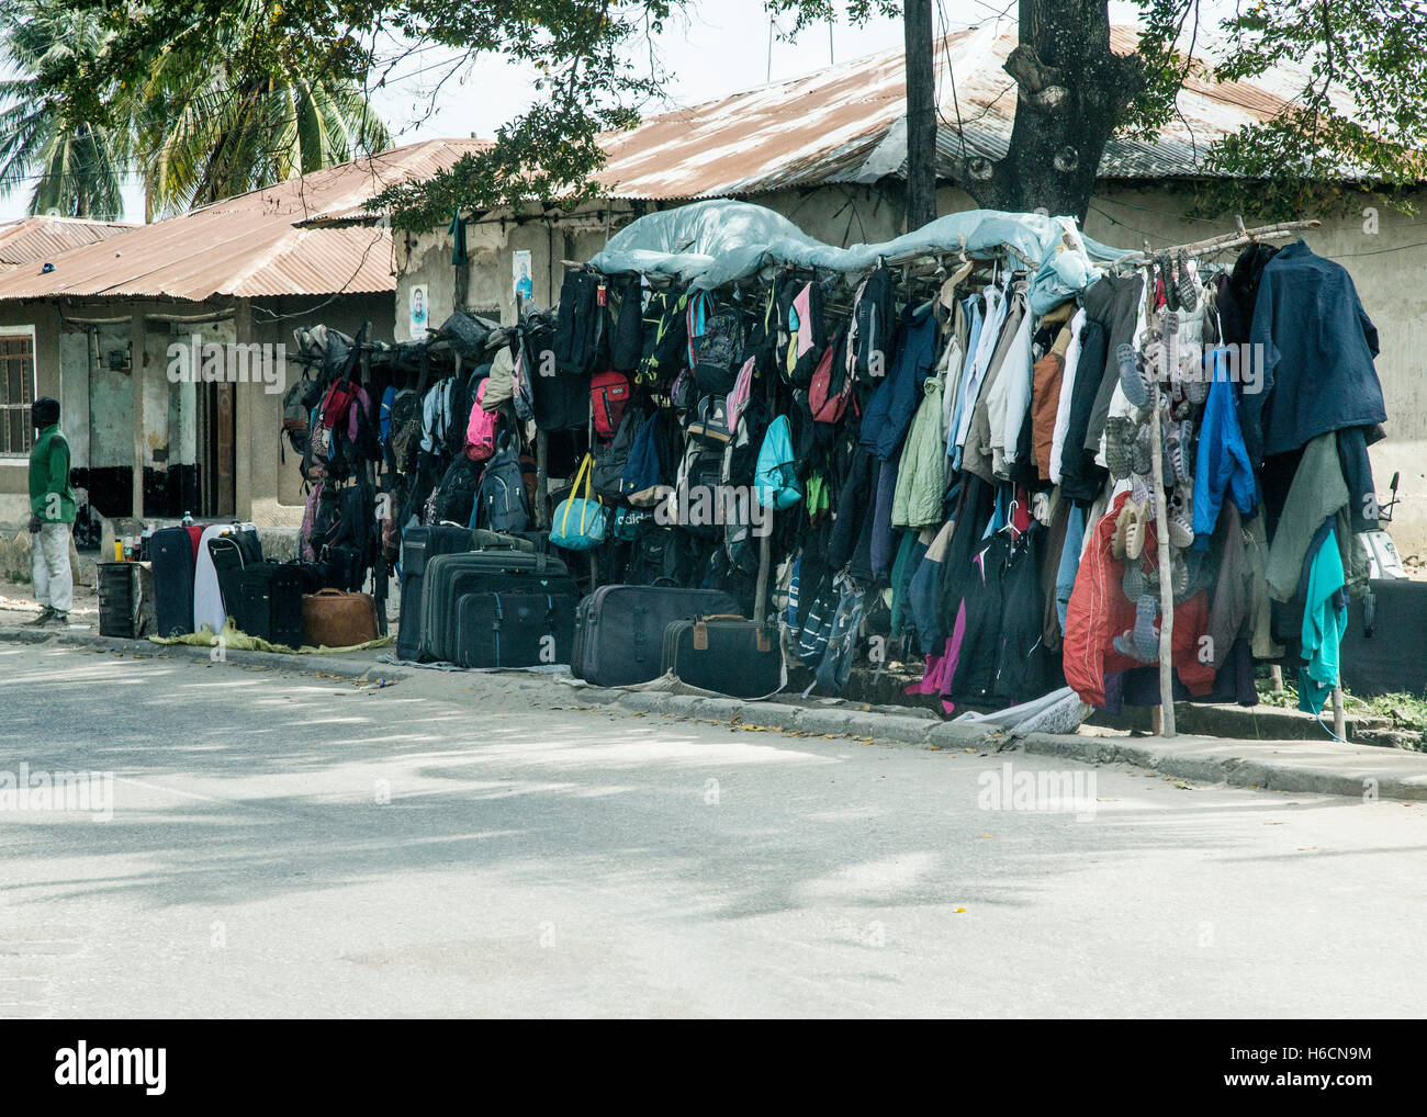
M 1122 121 L 1146 137 L 1174 118 L 1186 81 L 1287 81 L 1264 118 L 1213 144 L 1202 213 L 1263 220 L 1341 213 L 1368 188 L 1410 208 L 1427 178 L 1427 6 L 1394 0 L 1260 0 L 1217 24 L 1197 0 L 1142 0 L 1150 80 Z

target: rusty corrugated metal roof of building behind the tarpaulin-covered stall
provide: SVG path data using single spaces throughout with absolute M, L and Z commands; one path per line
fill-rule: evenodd
M 1112 27 L 1110 49 L 1132 53 L 1137 34 L 1136 27 Z M 1213 44 L 1204 50 L 1204 39 L 1196 57 L 1213 53 Z M 1006 154 L 1016 90 L 1002 66 L 1016 43 L 1016 21 L 1005 19 L 955 31 L 938 44 L 936 146 L 943 177 L 953 177 L 963 137 L 973 157 Z M 1293 66 L 1254 83 L 1216 83 L 1193 74 L 1179 97 L 1180 118 L 1154 143 L 1112 140 L 1099 173 L 1104 178 L 1204 175 L 1204 154 L 1214 140 L 1273 117 L 1303 80 L 1301 68 Z M 615 197 L 674 200 L 903 175 L 905 101 L 903 51 L 886 50 L 649 117 L 629 133 L 606 137 L 609 160 L 599 181 Z

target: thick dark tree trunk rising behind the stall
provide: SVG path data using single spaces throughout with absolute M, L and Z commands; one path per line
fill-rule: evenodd
M 1020 44 L 1010 150 L 972 160 L 963 183 L 992 210 L 1046 210 L 1085 221 L 1104 146 L 1144 86 L 1137 56 L 1110 53 L 1106 0 L 1020 0 Z

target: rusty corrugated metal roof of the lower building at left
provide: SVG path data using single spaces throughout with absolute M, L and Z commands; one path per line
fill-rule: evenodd
M 327 167 L 130 230 L 114 244 L 56 255 L 54 271 L 0 274 L 0 300 L 74 297 L 327 295 L 394 291 L 391 233 L 310 227 L 357 214 L 387 185 L 450 167 L 481 140 L 427 140 Z

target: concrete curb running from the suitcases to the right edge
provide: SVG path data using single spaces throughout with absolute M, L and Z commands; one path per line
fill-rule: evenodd
M 1099 738 L 1029 733 L 1007 738 L 990 729 L 866 710 L 742 702 L 651 690 L 582 692 L 589 705 L 631 713 L 756 725 L 813 736 L 846 736 L 929 749 L 1010 750 L 1059 756 L 1087 765 L 1124 763 L 1163 776 L 1254 790 L 1340 795 L 1351 799 L 1427 800 L 1427 755 L 1374 745 L 1303 740 L 1243 742 L 1222 738 Z

